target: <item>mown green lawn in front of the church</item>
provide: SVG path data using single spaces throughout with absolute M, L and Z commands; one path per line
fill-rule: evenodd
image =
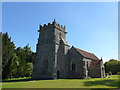
M 92 79 L 33 80 L 19 78 L 6 80 L 2 88 L 118 88 L 118 76 Z

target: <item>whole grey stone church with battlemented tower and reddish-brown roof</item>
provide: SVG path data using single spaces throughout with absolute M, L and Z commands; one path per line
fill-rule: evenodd
M 66 41 L 66 27 L 52 23 L 40 25 L 33 62 L 33 79 L 102 78 L 103 60 Z

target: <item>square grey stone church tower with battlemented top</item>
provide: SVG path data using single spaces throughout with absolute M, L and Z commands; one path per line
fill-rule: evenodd
M 33 62 L 33 79 L 66 78 L 66 53 L 69 45 L 66 41 L 66 28 L 54 20 L 39 27 L 39 38 Z

